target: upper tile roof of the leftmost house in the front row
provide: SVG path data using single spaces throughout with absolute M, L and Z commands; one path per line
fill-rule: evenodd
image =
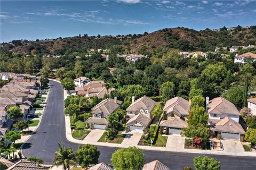
M 120 100 L 117 100 L 117 103 L 115 103 L 114 99 L 107 98 L 105 100 L 102 100 L 98 105 L 94 106 L 91 110 L 92 113 L 103 113 L 103 114 L 111 114 L 114 113 L 122 104 L 123 102 Z

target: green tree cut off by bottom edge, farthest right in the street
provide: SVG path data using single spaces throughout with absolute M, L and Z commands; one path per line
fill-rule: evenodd
M 194 167 L 196 170 L 219 170 L 221 169 L 221 163 L 214 158 L 207 156 L 198 156 L 193 159 Z

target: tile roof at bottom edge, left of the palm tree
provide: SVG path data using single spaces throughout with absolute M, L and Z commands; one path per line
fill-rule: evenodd
M 43 170 L 50 169 L 50 167 L 38 165 L 36 162 L 30 162 L 28 160 L 21 159 L 18 163 L 15 163 L 7 170 Z

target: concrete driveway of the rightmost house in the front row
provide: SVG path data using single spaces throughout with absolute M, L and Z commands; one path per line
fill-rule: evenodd
M 223 151 L 226 152 L 232 152 L 232 153 L 238 153 L 238 152 L 243 152 L 243 145 L 240 141 L 236 140 L 221 140 L 221 143 L 223 145 Z

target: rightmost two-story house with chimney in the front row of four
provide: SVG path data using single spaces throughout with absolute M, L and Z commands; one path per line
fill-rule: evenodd
M 206 112 L 209 114 L 211 135 L 218 139 L 243 141 L 244 129 L 239 124 L 241 115 L 236 106 L 225 98 L 217 97 L 209 101 L 206 97 Z

